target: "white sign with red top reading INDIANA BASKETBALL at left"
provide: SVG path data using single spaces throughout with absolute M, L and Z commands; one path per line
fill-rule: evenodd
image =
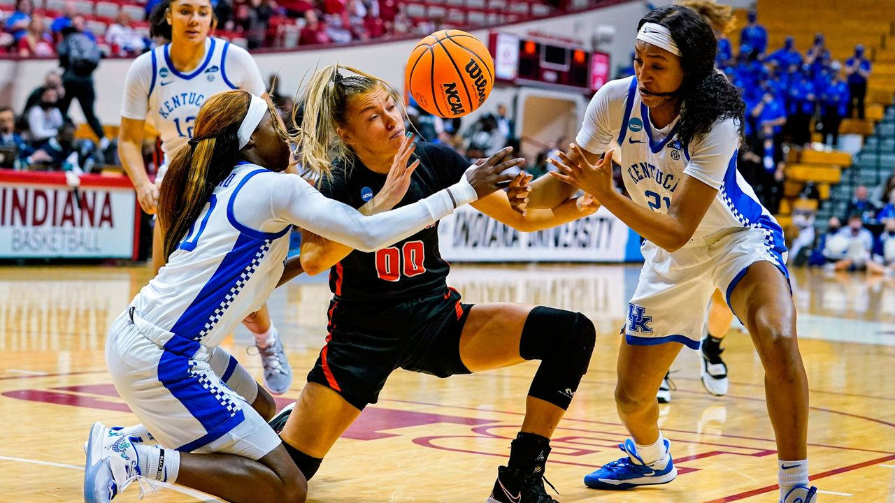
M 88 175 L 74 192 L 61 173 L 0 174 L 0 258 L 131 259 L 136 217 L 126 180 Z

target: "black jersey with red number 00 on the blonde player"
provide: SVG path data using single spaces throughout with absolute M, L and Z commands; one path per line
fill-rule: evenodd
M 420 159 L 410 188 L 395 208 L 411 204 L 460 180 L 468 163 L 454 150 L 418 143 L 413 158 Z M 320 192 L 355 209 L 371 200 L 385 184 L 386 175 L 373 173 L 361 161 L 354 166 L 337 163 Z M 329 270 L 329 289 L 338 299 L 396 301 L 424 297 L 447 288 L 450 269 L 439 252 L 438 223 L 377 252 L 355 250 Z

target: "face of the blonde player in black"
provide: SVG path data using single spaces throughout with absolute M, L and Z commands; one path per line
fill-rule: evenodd
M 351 98 L 345 117 L 339 136 L 358 153 L 395 155 L 404 141 L 404 114 L 381 87 Z

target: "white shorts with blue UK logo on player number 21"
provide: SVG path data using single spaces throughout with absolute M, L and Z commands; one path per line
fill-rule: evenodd
M 678 342 L 699 349 L 705 312 L 716 288 L 730 303 L 730 293 L 746 269 L 760 260 L 771 262 L 789 278 L 786 245 L 779 232 L 747 227 L 701 241 L 677 252 L 644 243 L 644 268 L 627 306 L 627 344 Z

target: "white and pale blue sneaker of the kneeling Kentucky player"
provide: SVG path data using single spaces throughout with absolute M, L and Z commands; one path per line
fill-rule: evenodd
M 111 441 L 108 441 L 111 440 Z M 133 481 L 141 480 L 137 449 L 124 435 L 93 423 L 84 466 L 84 503 L 107 503 Z M 141 486 L 141 497 L 142 497 Z

